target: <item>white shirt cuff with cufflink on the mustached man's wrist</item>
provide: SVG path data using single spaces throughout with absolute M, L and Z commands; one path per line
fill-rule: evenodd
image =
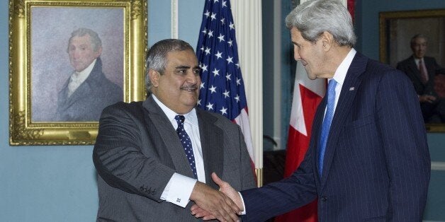
M 174 173 L 162 192 L 161 199 L 185 208 L 196 181 L 191 177 Z

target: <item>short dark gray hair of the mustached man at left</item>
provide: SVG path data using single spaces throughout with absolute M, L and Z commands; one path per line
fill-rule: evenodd
M 165 66 L 167 65 L 167 53 L 184 50 L 195 52 L 190 44 L 177 39 L 160 40 L 148 49 L 147 59 L 145 60 L 145 88 L 147 89 L 147 94 L 152 93 L 152 82 L 148 76 L 148 71 L 152 69 L 158 71 L 161 75 L 164 74 Z

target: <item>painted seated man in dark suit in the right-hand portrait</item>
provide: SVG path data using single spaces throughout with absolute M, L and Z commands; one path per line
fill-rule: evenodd
M 419 97 L 424 122 L 445 122 L 445 98 L 434 90 L 434 78 L 445 74 L 434 57 L 426 57 L 427 37 L 417 34 L 411 38 L 412 56 L 399 62 L 397 69 L 410 78 Z

